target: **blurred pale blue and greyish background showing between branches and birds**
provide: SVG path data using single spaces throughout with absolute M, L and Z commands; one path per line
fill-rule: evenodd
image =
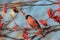
M 12 2 L 27 2 L 27 1 L 34 1 L 34 0 L 0 0 L 0 4 L 4 4 L 4 3 L 8 4 L 8 3 L 12 3 Z M 51 0 L 51 1 L 56 2 L 57 0 Z M 33 2 L 32 4 L 38 5 L 38 4 L 52 4 L 52 3 L 47 0 L 37 0 L 37 2 Z M 40 19 L 43 19 L 43 20 L 48 19 L 49 17 L 47 15 L 47 10 L 49 8 L 56 10 L 57 7 L 58 7 L 57 4 L 49 5 L 49 6 L 22 6 L 22 10 L 26 13 L 26 15 L 31 15 L 38 21 Z M 11 10 L 9 8 L 9 9 L 7 9 L 7 13 L 3 18 L 5 21 L 10 20 L 10 18 L 11 18 L 10 13 L 11 13 Z M 3 15 L 3 11 L 1 11 L 1 14 Z M 25 28 L 27 26 L 30 27 L 29 24 L 27 23 L 27 20 L 25 19 L 24 16 L 22 16 L 22 14 L 20 12 L 17 14 L 17 16 L 14 20 L 15 20 L 16 24 L 19 25 L 19 27 L 22 27 L 22 28 Z M 12 20 L 7 25 L 8 28 L 13 28 L 13 26 L 15 25 L 14 20 Z M 48 22 L 48 25 L 58 25 L 59 24 L 59 23 L 53 21 L 52 19 L 48 19 L 47 22 Z M 41 27 L 45 27 L 45 26 L 41 25 Z M 6 34 L 7 32 L 8 32 L 8 30 L 5 30 L 3 34 Z M 15 32 L 8 34 L 8 36 L 20 39 L 21 37 L 17 36 L 17 35 L 21 35 L 20 32 L 21 31 L 15 31 Z M 30 36 L 31 35 L 34 35 L 34 34 L 30 34 Z M 38 38 L 40 38 L 40 37 L 35 37 L 34 40 L 38 40 Z M 14 39 L 5 37 L 4 40 L 14 40 Z M 60 31 L 51 32 L 45 38 L 43 38 L 41 40 L 60 40 Z

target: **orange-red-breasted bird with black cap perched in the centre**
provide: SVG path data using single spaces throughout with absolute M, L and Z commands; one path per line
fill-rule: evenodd
M 41 28 L 39 23 L 31 15 L 26 15 L 26 20 L 32 28 L 34 29 Z

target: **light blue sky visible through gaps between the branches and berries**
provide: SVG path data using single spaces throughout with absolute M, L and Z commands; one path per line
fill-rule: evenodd
M 0 0 L 0 4 L 2 3 L 10 3 L 10 2 L 18 2 L 20 0 Z M 28 0 L 23 0 L 23 1 L 28 1 Z M 56 1 L 56 0 L 53 0 Z M 35 4 L 49 4 L 50 2 L 46 1 L 46 0 L 42 0 L 39 2 L 36 2 Z M 47 10 L 49 8 L 52 8 L 54 10 L 56 10 L 56 8 L 58 7 L 58 5 L 50 5 L 50 6 L 24 6 L 23 7 L 23 11 L 26 13 L 26 15 L 32 15 L 37 21 L 39 19 L 44 19 L 46 20 L 48 17 L 47 15 Z M 26 9 L 24 9 L 26 8 Z M 4 17 L 5 21 L 10 20 L 10 9 L 8 9 L 7 15 Z M 9 16 L 9 17 L 8 17 Z M 15 22 L 22 28 L 29 26 L 25 17 L 22 16 L 22 14 L 17 14 L 17 17 L 15 19 Z M 24 24 L 24 25 L 23 25 Z M 54 22 L 52 19 L 48 20 L 48 24 L 49 25 L 56 25 L 58 24 L 57 22 Z M 12 22 L 10 22 L 10 24 L 8 25 L 8 27 L 12 28 L 14 26 L 14 20 Z M 40 24 L 41 25 L 41 24 Z M 42 26 L 42 25 L 41 25 Z M 30 26 L 29 26 L 30 27 Z M 18 34 L 17 32 L 13 32 L 11 34 L 9 34 L 9 36 L 15 37 L 16 34 Z M 45 38 L 43 38 L 42 40 L 59 40 L 60 39 L 60 31 L 57 32 L 52 32 L 50 34 L 48 34 Z M 38 38 L 36 37 L 34 40 L 37 40 Z M 5 38 L 5 40 L 11 40 L 8 38 Z

